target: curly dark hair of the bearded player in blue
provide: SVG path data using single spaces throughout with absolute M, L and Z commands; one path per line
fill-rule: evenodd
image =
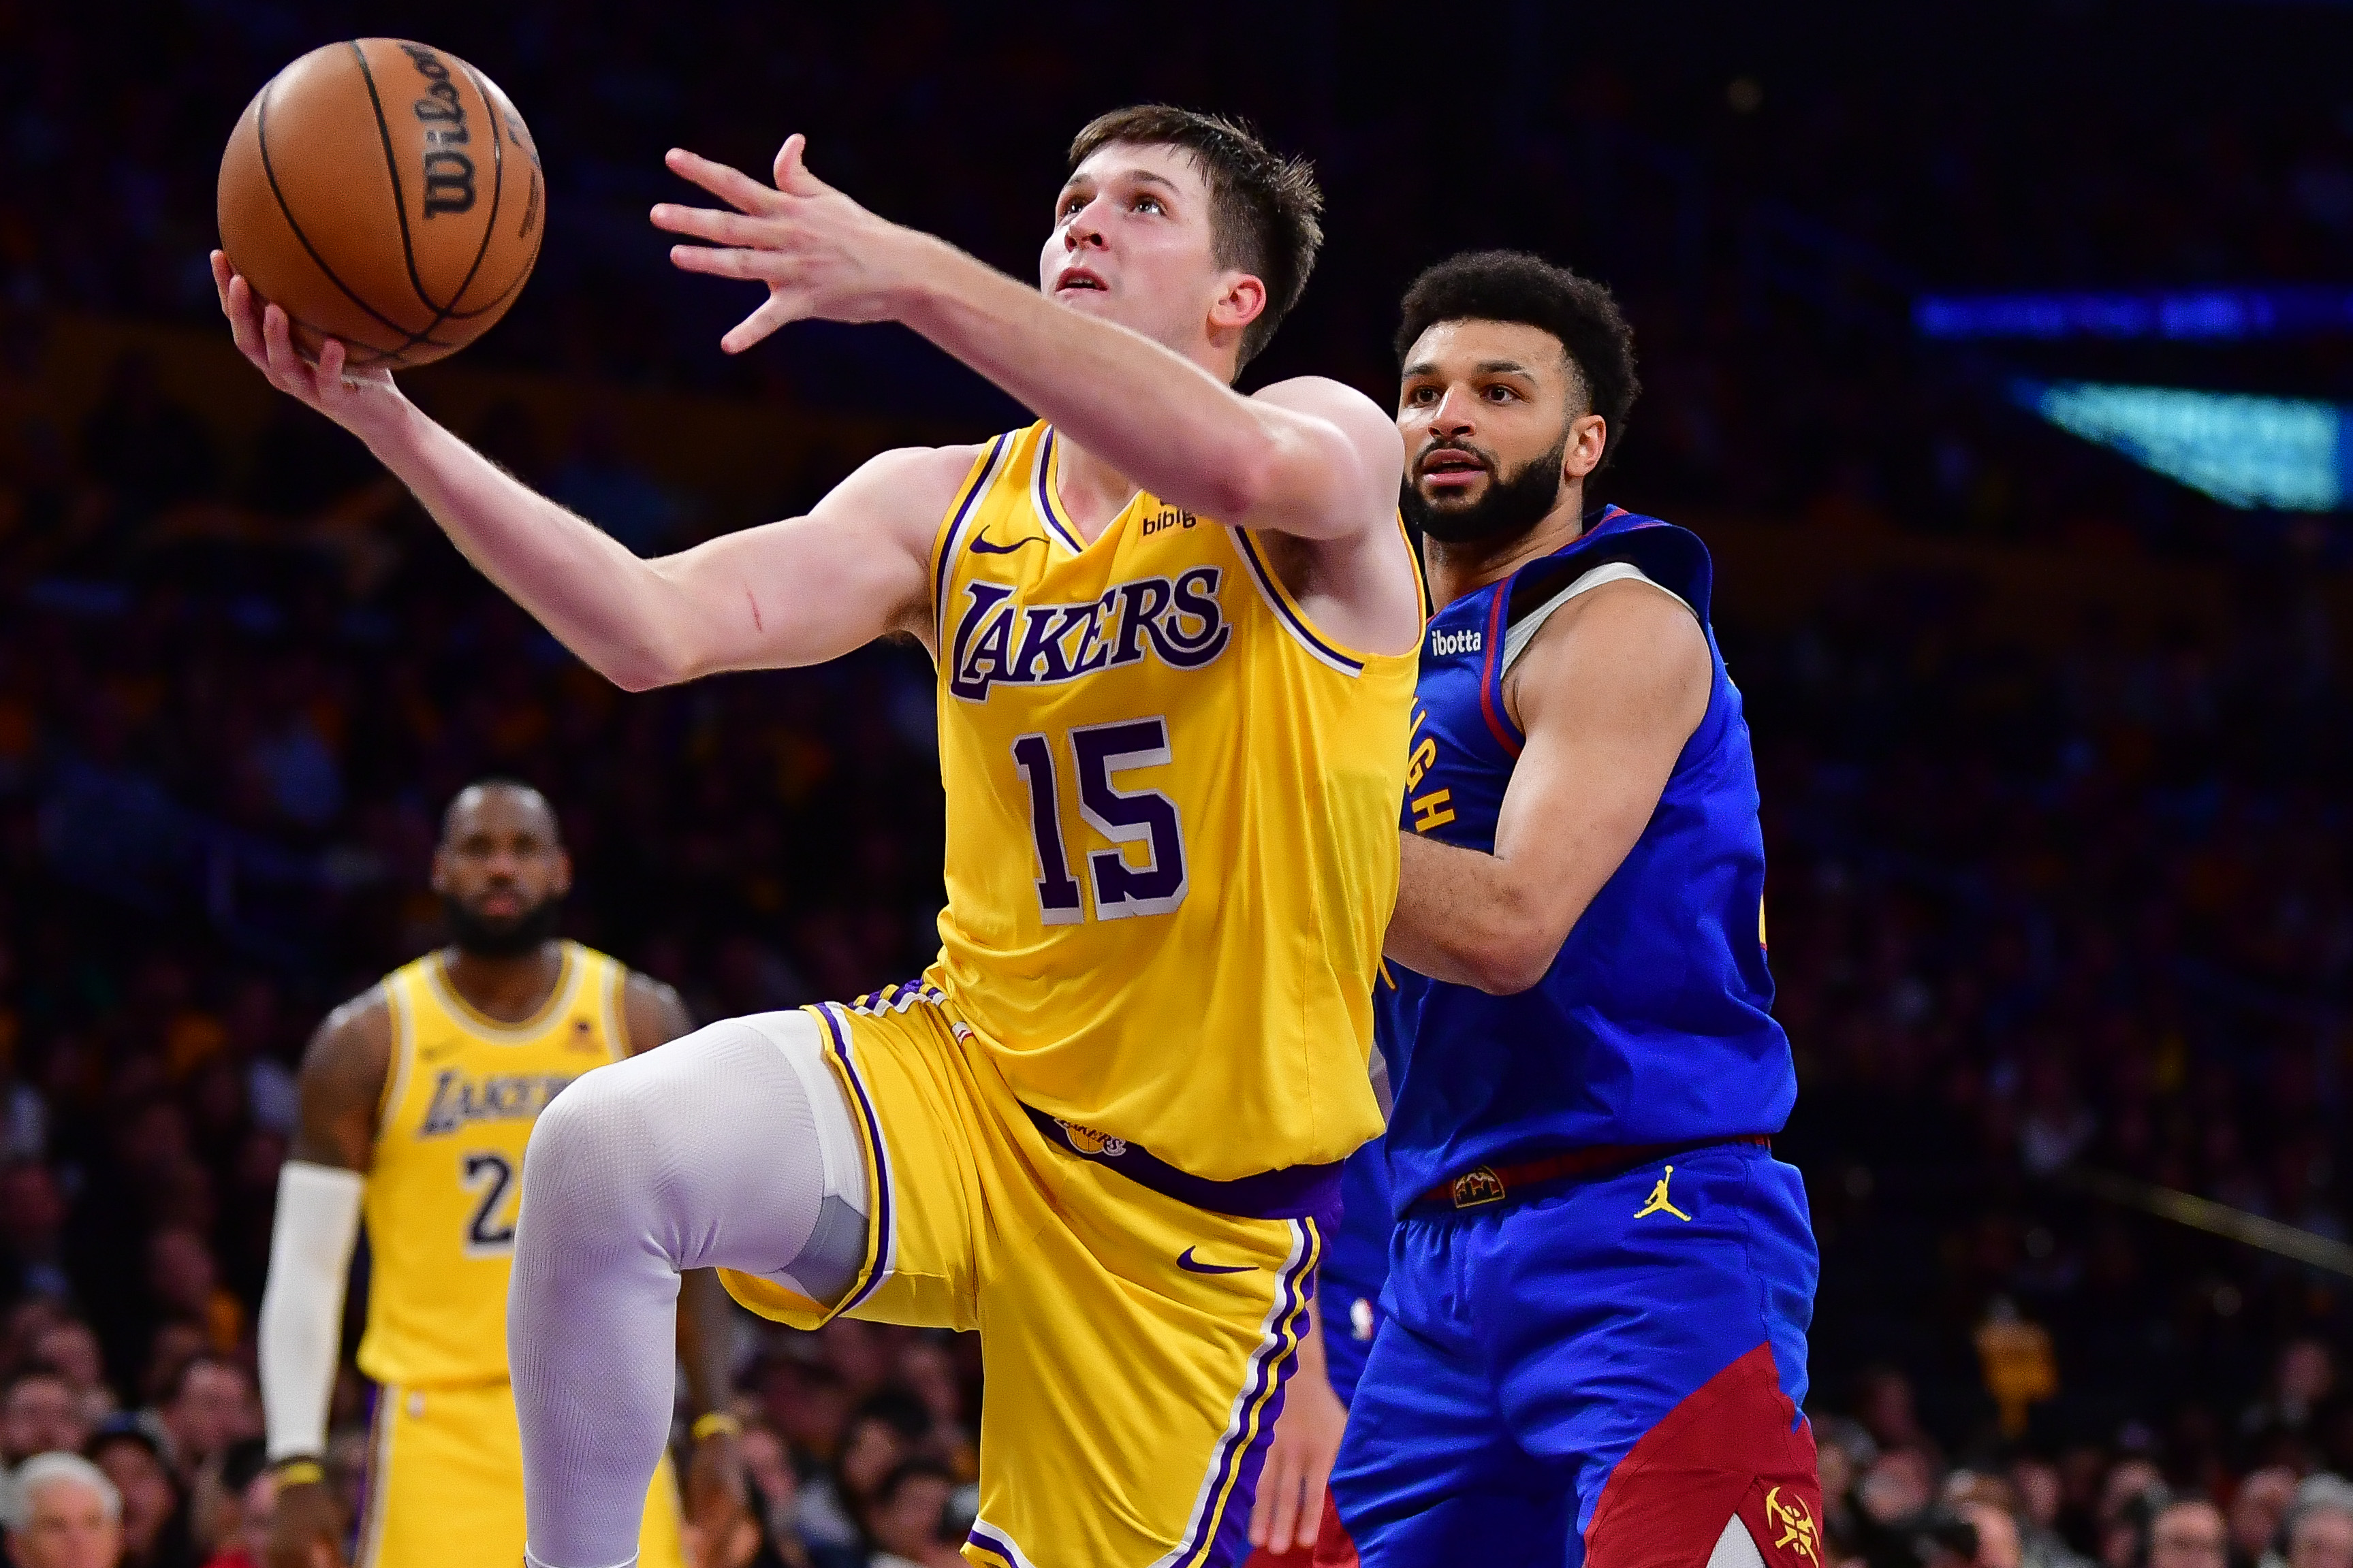
M 1600 468 L 1617 456 L 1642 381 L 1633 369 L 1633 327 L 1607 284 L 1527 252 L 1464 252 L 1424 270 L 1398 310 L 1400 364 L 1438 322 L 1518 322 L 1551 331 L 1577 371 L 1586 414 L 1600 414 L 1607 425 Z

